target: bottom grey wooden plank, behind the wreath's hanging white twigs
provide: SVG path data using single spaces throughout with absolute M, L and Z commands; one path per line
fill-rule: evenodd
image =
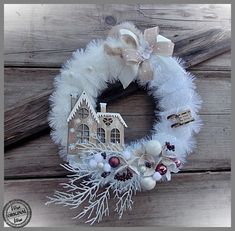
M 5 203 L 21 198 L 32 208 L 28 226 L 88 226 L 73 220 L 80 208 L 70 210 L 59 205 L 45 206 L 46 196 L 61 190 L 65 178 L 5 181 Z M 170 183 L 161 183 L 152 191 L 138 193 L 132 211 L 121 220 L 114 212 L 96 226 L 230 226 L 230 173 L 184 173 L 173 175 Z M 110 202 L 111 209 L 114 202 Z

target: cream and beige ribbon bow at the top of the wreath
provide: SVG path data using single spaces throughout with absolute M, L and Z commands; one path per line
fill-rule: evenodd
M 159 35 L 159 28 L 153 27 L 144 31 L 144 40 L 147 43 L 145 48 L 141 47 L 138 37 L 128 29 L 119 30 L 120 38 L 135 44 L 134 48 L 123 48 L 122 59 L 126 65 L 134 70 L 133 76 L 123 76 L 119 79 L 126 88 L 136 76 L 140 81 L 153 80 L 153 69 L 150 65 L 152 55 L 172 56 L 174 43 L 171 40 Z

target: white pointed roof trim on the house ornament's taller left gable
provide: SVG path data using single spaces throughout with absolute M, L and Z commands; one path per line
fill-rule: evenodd
M 82 92 L 81 96 L 79 97 L 78 101 L 76 102 L 76 104 L 74 105 L 72 111 L 70 112 L 68 118 L 67 118 L 67 122 L 69 122 L 76 114 L 77 110 L 79 109 L 79 107 L 81 106 L 81 104 L 83 103 L 83 101 L 86 102 L 87 106 L 90 109 L 90 112 L 92 114 L 92 116 L 94 117 L 94 119 L 96 120 L 97 123 L 99 123 L 99 118 L 96 114 L 95 109 L 93 108 L 87 94 L 85 91 Z

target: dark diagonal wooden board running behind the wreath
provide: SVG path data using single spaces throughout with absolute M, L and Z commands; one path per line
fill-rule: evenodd
M 27 9 L 31 8 L 29 7 Z M 50 7 L 46 9 L 50 9 Z M 6 33 L 6 37 L 7 36 L 8 35 Z M 204 29 L 199 31 L 195 30 L 191 33 L 188 33 L 176 39 L 175 54 L 185 60 L 185 67 L 191 67 L 202 61 L 208 60 L 209 58 L 212 58 L 218 54 L 230 50 L 230 40 L 231 40 L 231 34 L 229 31 L 224 31 L 222 29 L 209 29 L 209 30 Z M 120 95 L 125 96 L 127 95 L 128 92 L 133 93 L 137 90 L 138 90 L 137 85 L 132 84 L 132 86 L 129 86 L 128 89 L 120 93 Z M 110 94 L 113 94 L 113 92 L 114 91 L 111 91 Z M 119 89 L 118 91 L 115 92 L 119 92 Z M 51 91 L 48 91 L 47 96 L 49 97 L 50 94 Z M 106 98 L 106 101 L 108 102 L 111 99 L 113 100 L 113 98 L 117 98 L 117 96 L 115 95 L 111 96 L 110 98 L 110 94 L 108 98 Z M 5 146 L 9 146 L 30 135 L 34 135 L 36 132 L 45 129 L 45 127 L 47 128 L 46 123 L 47 123 L 49 106 L 47 102 L 42 102 L 43 100 L 45 100 L 45 98 L 46 98 L 46 93 L 42 94 L 41 98 L 35 96 L 31 99 L 31 101 L 29 99 L 25 104 L 21 104 L 20 106 L 17 106 L 17 108 L 8 110 L 5 113 L 5 118 L 7 118 L 7 121 L 4 124 Z M 104 98 L 101 99 L 103 100 Z M 41 107 L 42 104 L 43 107 Z M 38 116 L 37 114 L 35 114 L 35 112 L 38 111 L 39 109 L 40 109 L 40 114 L 39 114 L 40 118 L 38 119 Z M 21 113 L 17 117 L 18 111 L 22 112 L 23 110 L 25 110 L 25 115 Z M 22 123 L 22 117 L 25 118 L 23 123 Z M 44 124 L 42 123 L 43 119 L 44 119 Z M 29 121 L 30 123 L 28 123 Z M 27 126 L 25 126 L 25 122 L 27 123 Z

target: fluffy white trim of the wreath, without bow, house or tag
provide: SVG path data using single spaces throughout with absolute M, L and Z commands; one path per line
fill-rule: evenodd
M 90 42 L 85 50 L 73 53 L 73 57 L 65 63 L 55 78 L 55 91 L 50 97 L 49 124 L 52 128 L 52 139 L 60 145 L 60 156 L 66 161 L 69 160 L 66 151 L 68 131 L 66 119 L 71 109 L 70 95 L 79 95 L 85 90 L 95 107 L 96 99 L 106 89 L 107 83 L 113 83 L 120 75 L 127 76 L 131 71 L 125 68 L 120 60 L 104 52 L 104 42 L 112 45 L 119 43 L 110 38 Z M 157 106 L 161 108 L 160 122 L 153 125 L 152 137 L 133 142 L 126 148 L 134 148 L 146 139 L 158 140 L 162 145 L 168 141 L 175 145 L 177 158 L 184 161 L 195 146 L 193 135 L 199 132 L 202 124 L 197 115 L 202 101 L 195 91 L 194 76 L 187 73 L 181 66 L 180 60 L 176 58 L 153 55 L 150 62 L 154 79 L 147 85 L 147 92 L 158 101 Z M 183 109 L 190 109 L 195 121 L 178 128 L 171 128 L 166 117 Z M 159 117 L 158 109 L 156 116 Z

